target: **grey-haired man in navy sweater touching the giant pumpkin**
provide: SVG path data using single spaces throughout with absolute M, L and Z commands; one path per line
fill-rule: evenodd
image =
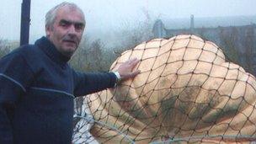
M 71 143 L 73 99 L 135 77 L 138 60 L 117 72 L 79 73 L 67 65 L 83 35 L 83 12 L 61 3 L 45 16 L 46 37 L 0 60 L 0 143 Z

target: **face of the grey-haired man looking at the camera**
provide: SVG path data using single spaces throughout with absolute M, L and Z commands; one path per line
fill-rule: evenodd
M 82 39 L 84 26 L 79 10 L 63 7 L 57 11 L 54 24 L 46 28 L 46 35 L 61 54 L 71 57 Z

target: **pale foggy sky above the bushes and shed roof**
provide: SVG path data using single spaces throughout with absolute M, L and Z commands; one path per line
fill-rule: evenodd
M 62 0 L 31 0 L 30 41 L 45 35 L 45 13 Z M 256 15 L 256 0 L 68 0 L 85 13 L 86 33 L 154 19 Z M 1 0 L 0 39 L 19 40 L 22 0 Z M 147 14 L 149 15 L 147 17 Z

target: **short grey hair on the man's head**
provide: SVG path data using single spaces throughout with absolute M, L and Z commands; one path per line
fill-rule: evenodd
M 77 9 L 78 11 L 80 11 L 83 14 L 83 22 L 85 23 L 83 10 L 81 8 L 79 8 L 77 6 L 77 4 L 63 2 L 63 3 L 60 3 L 60 4 L 56 5 L 54 8 L 51 8 L 45 14 L 45 27 L 46 28 L 51 28 L 52 27 L 52 25 L 54 24 L 54 22 L 56 20 L 56 13 L 58 12 L 58 10 L 60 8 L 65 7 L 65 6 L 67 6 L 68 8 Z

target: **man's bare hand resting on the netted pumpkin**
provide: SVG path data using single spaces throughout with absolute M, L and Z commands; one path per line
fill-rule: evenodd
M 134 69 L 134 67 L 136 67 L 136 64 L 139 61 L 140 60 L 133 58 L 131 60 L 125 61 L 120 65 L 120 67 L 118 67 L 117 72 L 119 72 L 121 80 L 135 77 L 137 74 L 141 72 L 140 70 L 132 72 L 132 70 Z

